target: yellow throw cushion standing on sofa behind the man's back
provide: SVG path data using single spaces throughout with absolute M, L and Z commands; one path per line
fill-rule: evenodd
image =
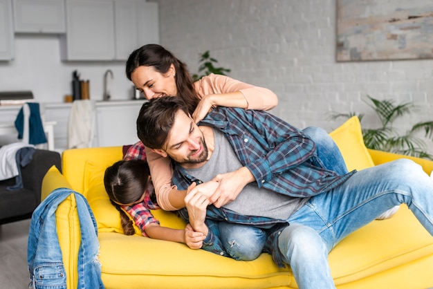
M 338 129 L 331 131 L 329 135 L 338 145 L 349 171 L 353 169 L 359 171 L 374 166 L 362 138 L 361 124 L 358 117 L 349 118 Z

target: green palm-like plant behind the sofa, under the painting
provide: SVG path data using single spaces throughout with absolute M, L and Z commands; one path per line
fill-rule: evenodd
M 367 95 L 366 102 L 376 112 L 380 120 L 378 128 L 362 129 L 362 136 L 366 147 L 433 160 L 432 154 L 425 151 L 426 145 L 424 140 L 416 136 L 418 132 L 423 131 L 425 138 L 433 140 L 433 121 L 418 122 L 401 135 L 393 127 L 394 121 L 397 118 L 412 113 L 412 111 L 417 109 L 417 106 L 412 102 L 394 104 L 392 100 L 376 100 L 369 95 Z M 358 116 L 360 122 L 362 122 L 362 117 L 364 116 L 362 113 L 334 112 L 331 118 L 333 120 L 340 117 L 351 118 L 354 115 Z

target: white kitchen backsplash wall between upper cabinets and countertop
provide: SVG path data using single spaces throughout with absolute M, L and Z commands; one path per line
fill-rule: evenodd
M 33 91 L 37 102 L 63 102 L 72 94 L 72 72 L 90 80 L 90 97 L 102 100 L 103 75 L 113 71 L 108 88 L 113 100 L 132 97 L 125 62 L 62 62 L 57 35 L 15 35 L 15 59 L 0 62 L 0 91 Z

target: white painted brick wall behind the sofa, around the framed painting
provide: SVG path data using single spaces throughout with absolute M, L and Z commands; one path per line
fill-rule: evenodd
M 161 44 L 190 71 L 199 53 L 210 50 L 231 77 L 277 93 L 273 113 L 297 127 L 330 131 L 343 121 L 330 121 L 330 111 L 366 113 L 363 126 L 376 127 L 362 101 L 367 94 L 421 106 L 400 129 L 433 120 L 432 59 L 335 62 L 335 0 L 158 2 Z

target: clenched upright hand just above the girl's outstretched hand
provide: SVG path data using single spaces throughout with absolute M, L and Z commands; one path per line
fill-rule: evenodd
M 187 189 L 185 196 L 185 207 L 188 210 L 190 224 L 195 232 L 201 232 L 208 236 L 208 226 L 205 225 L 206 208 L 209 205 L 208 197 L 199 190 L 194 190 L 195 183 L 192 183 Z

